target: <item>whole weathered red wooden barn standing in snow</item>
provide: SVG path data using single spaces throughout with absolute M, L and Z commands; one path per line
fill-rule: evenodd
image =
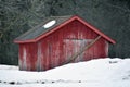
M 79 16 L 51 16 L 14 42 L 20 46 L 20 70 L 26 71 L 106 58 L 108 44 L 116 44 Z

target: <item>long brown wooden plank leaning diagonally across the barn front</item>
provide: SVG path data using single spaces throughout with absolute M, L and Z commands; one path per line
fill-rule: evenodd
M 73 54 L 68 61 L 66 61 L 64 64 L 67 64 L 69 62 L 72 62 L 73 60 L 75 60 L 78 55 L 80 55 L 81 53 L 83 53 L 87 49 L 89 49 L 91 46 L 93 46 L 102 36 L 98 36 L 92 42 L 90 42 L 89 45 L 87 45 L 86 47 L 83 47 L 79 52 Z

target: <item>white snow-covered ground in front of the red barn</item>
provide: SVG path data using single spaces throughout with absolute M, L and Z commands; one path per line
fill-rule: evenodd
M 0 87 L 130 87 L 130 59 L 98 59 L 46 72 L 0 65 Z

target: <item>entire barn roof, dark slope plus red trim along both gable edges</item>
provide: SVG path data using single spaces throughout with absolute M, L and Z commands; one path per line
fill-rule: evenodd
M 116 44 L 115 40 L 113 40 L 112 38 L 109 38 L 105 34 L 100 32 L 98 28 L 93 27 L 92 25 L 90 25 L 89 23 L 87 23 L 86 21 L 83 21 L 82 18 L 80 18 L 79 16 L 76 16 L 76 15 L 48 17 L 41 24 L 39 24 L 38 26 L 34 27 L 32 29 L 29 29 L 25 34 L 17 37 L 14 40 L 14 42 L 16 42 L 16 44 L 36 42 L 36 41 L 38 41 L 41 38 L 48 36 L 49 34 L 57 30 L 60 27 L 68 24 L 69 22 L 72 22 L 74 20 L 78 20 L 79 22 L 83 23 L 84 25 L 90 27 L 90 29 L 92 29 L 96 34 L 101 35 L 102 37 L 104 37 L 109 42 Z M 55 21 L 55 23 L 48 26 L 48 24 L 52 21 Z M 44 27 L 44 25 L 47 25 L 47 27 Z

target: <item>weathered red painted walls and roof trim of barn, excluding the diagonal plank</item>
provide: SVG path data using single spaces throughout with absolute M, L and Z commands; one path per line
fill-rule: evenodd
M 99 35 L 102 35 L 102 38 L 73 62 L 106 58 L 108 55 L 108 42 L 115 44 L 115 41 L 76 17 L 63 24 L 64 26 L 56 27 L 58 28 L 56 30 L 51 30 L 35 40 L 29 40 L 30 42 L 15 41 L 20 44 L 20 69 L 44 71 L 63 65 L 74 53 L 80 51 Z

